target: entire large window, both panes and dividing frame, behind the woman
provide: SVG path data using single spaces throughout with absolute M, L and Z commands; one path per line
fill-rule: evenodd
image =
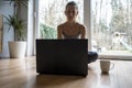
M 68 1 L 38 0 L 41 38 L 56 38 L 56 26 L 66 21 L 64 10 Z M 87 26 L 89 48 L 99 55 L 132 56 L 132 0 L 74 1 L 79 7 L 77 20 Z

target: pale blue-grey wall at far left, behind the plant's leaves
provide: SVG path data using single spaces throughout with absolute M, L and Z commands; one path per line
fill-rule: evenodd
M 13 8 L 10 6 L 10 1 L 0 1 L 0 14 L 9 15 L 13 14 Z M 8 31 L 8 25 L 6 24 L 6 18 L 3 18 L 3 47 L 0 57 L 9 57 L 8 42 L 13 41 L 13 30 Z

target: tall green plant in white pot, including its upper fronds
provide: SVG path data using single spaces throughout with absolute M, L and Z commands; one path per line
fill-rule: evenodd
M 26 7 L 29 0 L 9 0 L 13 4 L 13 15 L 6 16 L 9 30 L 14 31 L 14 41 L 9 42 L 9 52 L 11 58 L 24 57 L 26 50 L 24 21 L 19 15 L 21 6 Z

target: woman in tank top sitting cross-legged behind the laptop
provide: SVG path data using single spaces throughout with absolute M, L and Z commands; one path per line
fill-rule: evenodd
M 78 14 L 78 6 L 70 1 L 66 4 L 65 15 L 67 21 L 57 26 L 58 38 L 85 38 L 86 28 L 76 21 Z M 88 63 L 95 62 L 98 58 L 96 52 L 88 52 Z

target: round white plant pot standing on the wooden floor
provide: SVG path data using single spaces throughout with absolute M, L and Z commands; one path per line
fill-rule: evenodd
M 26 42 L 9 42 L 9 53 L 11 58 L 25 57 Z

